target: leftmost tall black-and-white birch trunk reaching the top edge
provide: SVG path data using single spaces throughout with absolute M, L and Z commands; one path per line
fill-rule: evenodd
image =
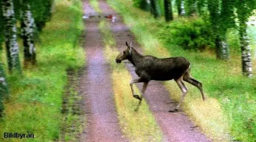
M 22 71 L 19 59 L 19 46 L 17 43 L 16 35 L 16 19 L 14 17 L 14 6 L 12 0 L 3 0 L 2 10 L 4 21 L 6 23 L 4 34 L 8 60 L 8 70 L 9 72 L 16 70 L 17 72 L 21 73 Z

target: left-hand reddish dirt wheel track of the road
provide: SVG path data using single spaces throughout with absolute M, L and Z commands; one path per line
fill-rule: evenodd
M 85 14 L 95 11 L 83 3 Z M 98 29 L 99 20 L 86 19 L 86 69 L 81 84 L 85 100 L 86 128 L 81 142 L 126 142 L 118 125 L 110 79 L 110 68 L 104 59 L 103 44 Z

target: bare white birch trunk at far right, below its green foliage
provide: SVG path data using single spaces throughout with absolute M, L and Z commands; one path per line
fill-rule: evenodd
M 247 33 L 247 26 L 246 23 L 243 24 L 244 26 L 240 26 L 239 33 L 240 33 L 240 46 L 242 52 L 242 72 L 245 76 L 249 78 L 252 77 L 252 58 L 250 53 L 250 41 L 249 36 Z

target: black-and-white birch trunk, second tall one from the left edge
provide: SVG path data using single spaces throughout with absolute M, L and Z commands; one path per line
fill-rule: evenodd
M 31 63 L 32 65 L 36 64 L 36 48 L 33 38 L 35 23 L 28 2 L 26 2 L 23 6 L 21 19 L 22 38 L 24 46 L 24 67 L 26 68 L 29 63 Z

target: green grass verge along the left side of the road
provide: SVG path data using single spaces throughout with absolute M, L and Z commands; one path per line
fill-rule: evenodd
M 4 102 L 0 134 L 29 131 L 35 138 L 1 136 L 2 142 L 42 142 L 59 138 L 66 69 L 83 66 L 84 51 L 78 46 L 83 29 L 80 1 L 58 0 L 55 4 L 52 20 L 40 35 L 42 43 L 36 44 L 37 66 L 23 70 L 23 76 L 7 76 L 10 97 Z

